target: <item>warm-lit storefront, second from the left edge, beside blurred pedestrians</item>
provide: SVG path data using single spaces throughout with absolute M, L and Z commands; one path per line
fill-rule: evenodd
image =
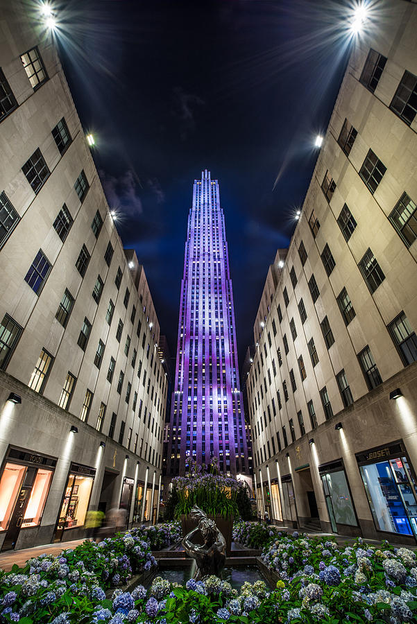
M 55 541 L 60 541 L 69 529 L 83 527 L 95 475 L 94 468 L 71 464 L 58 517 Z M 74 536 L 65 535 L 65 539 L 74 539 Z

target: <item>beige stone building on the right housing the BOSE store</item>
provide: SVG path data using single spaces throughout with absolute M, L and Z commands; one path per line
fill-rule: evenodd
M 375 22 L 271 268 L 246 390 L 260 513 L 415 544 L 417 6 Z

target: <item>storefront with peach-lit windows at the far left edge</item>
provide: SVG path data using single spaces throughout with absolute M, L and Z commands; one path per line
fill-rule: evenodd
M 56 459 L 9 448 L 0 478 L 2 551 L 15 548 L 22 529 L 40 525 Z

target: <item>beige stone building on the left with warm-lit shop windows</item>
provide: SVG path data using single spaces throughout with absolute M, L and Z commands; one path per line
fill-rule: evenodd
M 1 2 L 0 547 L 155 520 L 167 381 L 51 35 Z M 146 492 L 146 496 L 143 493 Z

